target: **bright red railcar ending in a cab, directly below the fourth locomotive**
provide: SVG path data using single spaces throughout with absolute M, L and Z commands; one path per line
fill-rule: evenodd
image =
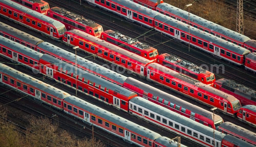
M 228 115 L 236 115 L 241 107 L 239 100 L 234 96 L 157 63 L 147 65 L 147 79 L 192 97 L 204 104 L 217 107 Z

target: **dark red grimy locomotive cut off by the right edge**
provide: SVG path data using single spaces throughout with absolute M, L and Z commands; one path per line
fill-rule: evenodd
M 233 80 L 219 79 L 213 84 L 213 87 L 233 95 L 240 102 L 241 105 L 256 105 L 256 91 L 244 85 L 238 84 Z

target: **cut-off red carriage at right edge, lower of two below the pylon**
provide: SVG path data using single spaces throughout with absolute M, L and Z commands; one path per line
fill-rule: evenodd
M 256 72 L 256 52 L 250 53 L 246 56 L 244 67 L 248 71 Z

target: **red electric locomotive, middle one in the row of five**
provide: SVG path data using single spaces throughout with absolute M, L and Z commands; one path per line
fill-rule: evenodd
M 127 51 L 135 53 L 148 60 L 155 61 L 158 56 L 158 52 L 155 48 L 125 36 L 119 32 L 107 30 L 101 33 L 100 39 L 119 46 Z

